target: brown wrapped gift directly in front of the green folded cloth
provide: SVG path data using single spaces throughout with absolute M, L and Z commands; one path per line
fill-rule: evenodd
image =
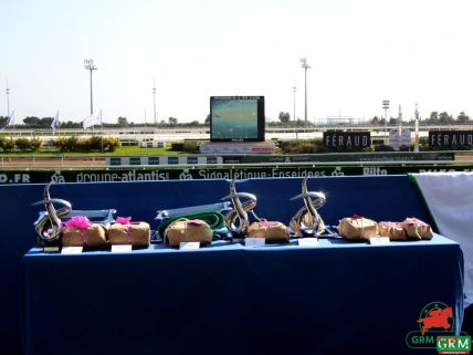
M 179 247 L 181 242 L 198 241 L 201 244 L 212 242 L 212 229 L 200 219 L 177 220 L 165 230 L 165 240 L 170 247 Z

